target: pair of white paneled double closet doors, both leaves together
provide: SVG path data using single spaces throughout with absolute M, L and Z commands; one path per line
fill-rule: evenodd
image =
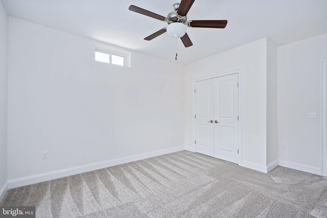
M 238 74 L 195 86 L 195 151 L 238 163 Z

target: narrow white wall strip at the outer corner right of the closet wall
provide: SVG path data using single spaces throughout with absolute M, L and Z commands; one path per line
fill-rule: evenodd
M 277 47 L 267 39 L 267 165 L 277 164 Z

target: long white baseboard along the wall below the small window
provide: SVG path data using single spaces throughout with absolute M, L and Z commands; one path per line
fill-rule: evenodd
M 169 153 L 178 152 L 178 151 L 183 151 L 183 150 L 185 150 L 185 146 L 174 147 L 174 148 L 163 149 L 163 150 L 159 150 L 159 151 L 155 151 L 155 152 L 148 152 L 148 153 L 143 153 L 143 154 L 138 154 L 138 155 L 132 155 L 129 157 L 117 158 L 117 159 L 113 159 L 113 160 L 106 160 L 106 161 L 102 161 L 102 162 L 61 169 L 59 171 L 53 171 L 53 172 L 49 172 L 49 173 L 8 180 L 7 189 L 8 188 L 9 189 L 17 188 L 17 187 L 21 187 L 21 186 L 25 186 L 25 185 L 31 185 L 31 184 L 35 184 L 35 183 L 39 183 L 39 182 L 45 182 L 45 181 L 58 179 L 58 178 L 66 177 L 66 176 L 72 176 L 72 175 L 85 173 L 85 172 L 89 172 L 89 171 L 95 171 L 97 169 L 106 168 L 109 166 L 128 163 L 128 162 L 132 162 L 132 161 L 136 161 L 136 160 L 143 160 L 146 158 L 169 154 Z

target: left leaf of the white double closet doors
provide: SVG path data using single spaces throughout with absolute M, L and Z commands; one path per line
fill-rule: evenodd
M 195 152 L 214 157 L 214 81 L 199 81 L 195 86 Z

